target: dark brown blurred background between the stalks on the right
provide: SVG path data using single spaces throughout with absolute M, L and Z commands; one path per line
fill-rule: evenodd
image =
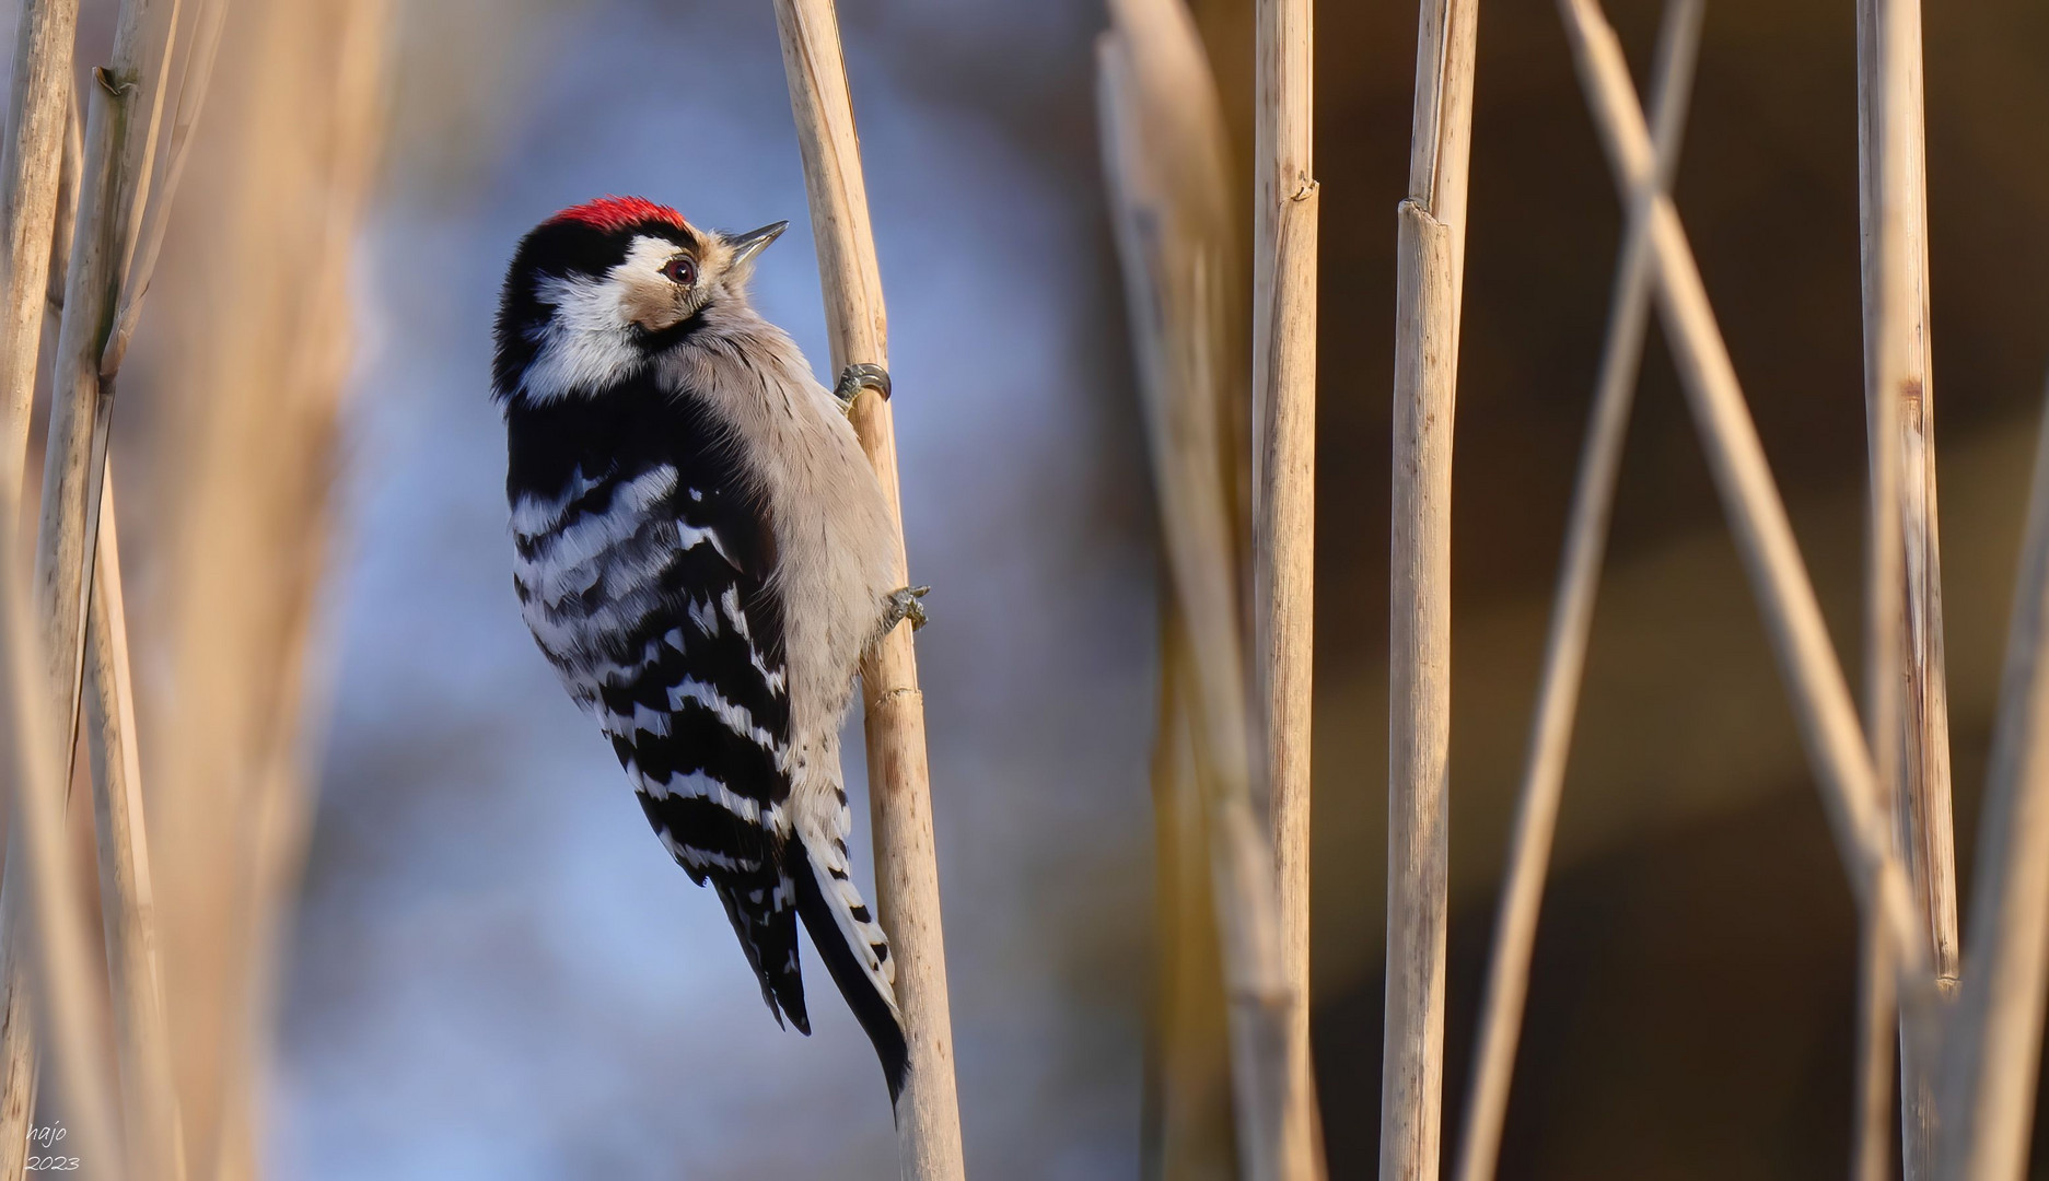
M 1250 6 L 1199 8 L 1244 151 Z M 1641 86 L 1660 6 L 1608 12 Z M 1377 1158 L 1387 375 L 1414 18 L 1412 4 L 1318 10 L 1315 1050 L 1334 1177 L 1369 1177 Z M 1483 6 L 1479 29 L 1453 510 L 1447 1158 L 1619 233 L 1553 8 Z M 2049 8 L 1928 6 L 1926 70 L 1969 874 L 2049 366 Z M 1854 86 L 1850 4 L 1715 0 L 1676 192 L 1852 677 L 1865 465 Z M 1565 792 L 1502 1177 L 1842 1175 L 1852 903 L 1656 332 Z

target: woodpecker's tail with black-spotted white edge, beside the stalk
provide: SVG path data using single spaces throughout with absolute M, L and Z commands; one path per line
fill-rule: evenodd
M 797 886 L 797 915 L 803 929 L 811 931 L 811 944 L 826 960 L 832 982 L 875 1042 L 889 1081 L 889 1103 L 895 1105 L 910 1048 L 904 1042 L 904 1015 L 895 1005 L 889 937 L 854 888 L 846 841 L 801 829 L 799 825 L 797 839 L 785 845 L 785 872 Z

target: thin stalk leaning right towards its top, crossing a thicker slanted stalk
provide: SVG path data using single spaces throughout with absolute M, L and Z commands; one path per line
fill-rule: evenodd
M 1705 0 L 1666 4 L 1651 82 L 1651 121 L 1658 139 L 1656 192 L 1670 192 L 1672 176 L 1678 172 L 1703 10 Z M 1502 1150 L 1508 1085 L 1514 1079 L 1522 1005 L 1529 997 L 1531 952 L 1537 946 L 1537 915 L 1543 907 L 1551 837 L 1557 833 L 1565 755 L 1572 749 L 1586 643 L 1600 587 L 1600 559 L 1615 508 L 1615 477 L 1629 434 L 1629 403 L 1643 360 L 1643 330 L 1649 325 L 1649 196 L 1645 190 L 1631 194 L 1623 248 L 1615 264 L 1608 338 L 1600 354 L 1600 377 L 1594 381 L 1594 413 L 1586 424 L 1580 479 L 1572 495 L 1572 520 L 1565 526 L 1565 553 L 1559 561 L 1557 602 L 1545 639 L 1531 749 L 1516 796 L 1514 833 L 1508 839 L 1508 868 L 1502 874 L 1502 905 L 1473 1050 L 1473 1089 L 1467 1099 L 1459 1181 L 1490 1181 Z

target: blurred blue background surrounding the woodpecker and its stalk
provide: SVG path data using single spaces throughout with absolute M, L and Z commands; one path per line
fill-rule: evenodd
M 473 0 L 402 20 L 281 1173 L 893 1175 L 873 1052 L 816 958 L 805 1040 L 527 637 L 486 391 L 512 244 L 602 192 L 729 229 L 791 219 L 756 299 L 824 368 L 772 12 Z M 1014 1177 L 1137 1161 L 1152 551 L 1076 102 L 1096 23 L 846 10 L 908 549 L 936 587 L 918 651 L 963 1109 L 973 1156 Z M 859 720 L 850 739 L 859 782 Z

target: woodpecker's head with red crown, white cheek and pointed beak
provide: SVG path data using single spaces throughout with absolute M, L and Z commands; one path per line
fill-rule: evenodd
M 520 242 L 498 305 L 500 399 L 594 395 L 684 342 L 719 309 L 746 309 L 754 258 L 787 221 L 699 229 L 666 205 L 604 196 Z

